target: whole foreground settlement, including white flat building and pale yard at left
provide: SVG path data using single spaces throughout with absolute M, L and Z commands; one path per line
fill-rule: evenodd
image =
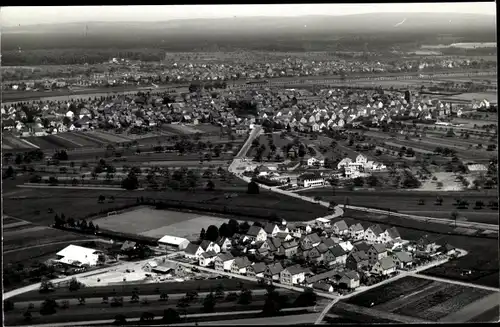
M 141 279 L 148 283 L 243 276 L 263 284 L 345 295 L 401 272 L 466 254 L 450 244 L 437 244 L 427 235 L 408 241 L 401 238 L 396 227 L 383 230 L 375 224 L 364 229 L 359 223 L 348 226 L 344 220 L 332 224 L 318 218 L 310 223 L 283 221 L 252 226 L 238 225 L 232 220 L 223 225 L 220 229 L 208 227 L 206 234 L 200 235 L 196 242 L 165 235 L 154 248 L 156 257 L 143 260 L 146 263 L 138 267 L 139 270 L 127 269 L 118 274 L 120 277 L 114 274 L 111 280 L 102 274 L 81 281 L 102 286 L 122 282 L 122 277 L 123 282 Z M 228 226 L 236 226 L 236 229 Z M 218 234 L 222 229 L 226 235 L 231 234 L 227 230 L 237 232 L 230 237 L 218 236 L 215 241 L 207 239 L 213 238 L 214 230 Z M 139 246 L 127 241 L 120 251 L 135 251 Z M 102 251 L 75 245 L 60 251 L 57 257 L 58 263 L 86 267 L 83 269 L 109 264 Z

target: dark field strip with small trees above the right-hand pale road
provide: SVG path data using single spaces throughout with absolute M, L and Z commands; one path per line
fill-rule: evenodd
M 335 201 L 344 204 L 347 200 L 350 205 L 360 207 L 372 207 L 379 209 L 390 209 L 399 213 L 422 215 L 436 218 L 449 218 L 451 212 L 457 210 L 459 216 L 470 221 L 498 224 L 498 213 L 495 210 L 484 207 L 474 209 L 476 201 L 497 201 L 497 197 L 491 194 L 473 192 L 423 192 L 423 191 L 344 191 L 336 190 L 332 195 L 331 188 L 311 189 L 298 192 L 299 194 L 315 197 L 320 196 L 324 201 Z M 443 199 L 442 205 L 436 205 L 436 198 Z M 419 205 L 419 200 L 424 200 L 423 205 Z M 457 209 L 456 199 L 464 199 L 469 202 L 468 209 Z M 450 218 L 451 219 L 451 218 Z

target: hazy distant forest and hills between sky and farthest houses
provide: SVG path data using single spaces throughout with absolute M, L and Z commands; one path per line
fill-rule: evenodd
M 459 42 L 496 42 L 495 22 L 490 16 L 455 15 L 453 25 L 450 25 L 448 21 L 451 22 L 453 16 L 450 15 L 415 14 L 410 17 L 407 13 L 399 13 L 182 20 L 151 24 L 92 23 L 87 35 L 82 29 L 85 24 L 81 23 L 27 26 L 23 30 L 12 27 L 2 31 L 2 64 L 94 64 L 119 56 L 157 61 L 162 60 L 167 51 L 368 50 L 387 53 L 393 47 L 411 51 L 419 44 L 442 43 L 440 35 L 443 34 L 453 36 Z M 408 19 L 402 27 L 394 28 L 393 24 L 400 22 L 401 17 Z M 474 51 L 481 53 L 480 50 Z

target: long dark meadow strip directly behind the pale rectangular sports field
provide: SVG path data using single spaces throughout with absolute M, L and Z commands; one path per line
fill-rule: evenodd
M 217 183 L 217 181 L 215 182 Z M 17 192 L 17 190 L 15 191 Z M 133 204 L 138 197 L 153 198 L 183 205 L 193 210 L 217 210 L 227 214 L 240 213 L 249 217 L 270 217 L 275 213 L 278 217 L 290 221 L 311 220 L 326 216 L 327 208 L 261 190 L 259 195 L 246 194 L 246 188 L 235 187 L 231 193 L 236 197 L 226 199 L 227 190 L 207 192 L 170 192 L 170 191 L 106 191 L 106 190 L 77 190 L 77 189 L 29 189 L 23 193 L 16 193 L 4 198 L 4 211 L 7 215 L 19 217 L 30 222 L 49 224 L 53 222 L 55 213 L 64 213 L 66 217 L 83 218 L 91 213 L 99 213 L 119 206 Z M 19 194 L 22 194 L 20 197 Z M 98 195 L 114 196 L 114 203 L 99 204 Z M 224 211 L 224 207 L 226 211 Z M 48 214 L 47 209 L 53 208 L 54 214 Z M 34 215 L 35 210 L 40 210 L 39 215 Z M 207 226 L 208 227 L 208 226 Z

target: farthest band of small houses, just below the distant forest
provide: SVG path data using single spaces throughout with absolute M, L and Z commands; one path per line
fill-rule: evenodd
M 258 56 L 258 54 L 254 54 Z M 271 59 L 271 60 L 270 60 Z M 41 80 L 6 81 L 2 84 L 4 90 L 50 90 L 65 88 L 71 85 L 83 87 L 98 87 L 103 85 L 151 84 L 168 82 L 189 82 L 195 80 L 231 80 L 238 78 L 273 78 L 289 76 L 331 75 L 332 71 L 347 73 L 384 73 L 404 72 L 441 68 L 468 66 L 470 61 L 451 59 L 435 61 L 430 58 L 418 61 L 396 61 L 381 63 L 359 60 L 321 60 L 319 58 L 249 58 L 231 57 L 222 63 L 212 62 L 192 63 L 142 63 L 123 58 L 112 58 L 105 63 L 110 69 L 104 73 L 86 73 L 73 75 L 70 78 L 48 78 Z M 171 60 L 169 60 L 171 61 Z M 90 68 L 90 66 L 88 66 Z M 7 76 L 6 76 L 7 77 Z

